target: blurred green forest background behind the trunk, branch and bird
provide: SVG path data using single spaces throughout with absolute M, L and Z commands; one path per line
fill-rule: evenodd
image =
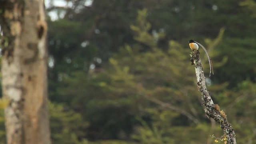
M 242 144 L 256 144 L 254 0 L 46 0 L 53 144 L 212 144 L 188 40 Z M 5 144 L 1 111 L 0 143 Z

